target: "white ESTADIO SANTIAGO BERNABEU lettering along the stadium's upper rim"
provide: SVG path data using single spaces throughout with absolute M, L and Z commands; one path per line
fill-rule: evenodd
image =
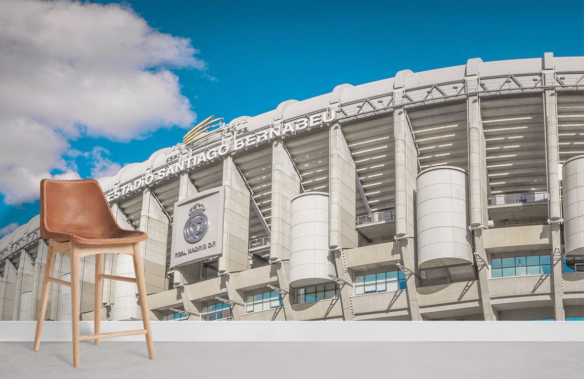
M 252 145 L 259 145 L 271 142 L 276 138 L 287 138 L 291 135 L 301 133 L 304 130 L 321 128 L 325 124 L 330 124 L 336 119 L 335 109 L 326 109 L 323 112 L 311 114 L 300 119 L 288 121 L 279 126 L 269 126 L 252 133 L 241 135 L 234 133 L 234 139 L 221 145 L 207 148 L 206 151 L 191 153 L 187 157 L 179 158 L 178 162 L 162 166 L 152 172 L 144 173 L 141 178 L 136 178 L 128 183 L 116 187 L 106 194 L 107 201 L 114 201 L 128 193 L 137 192 L 144 186 L 164 180 L 184 171 L 191 171 L 193 168 L 207 165 L 217 159 L 223 159 L 232 152 L 245 150 Z M 244 121 L 245 122 L 245 121 Z M 230 123 L 229 125 L 231 125 Z

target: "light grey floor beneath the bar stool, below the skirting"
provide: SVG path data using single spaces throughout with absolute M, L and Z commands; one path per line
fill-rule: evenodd
M 582 342 L 0 342 L 2 378 L 581 378 Z

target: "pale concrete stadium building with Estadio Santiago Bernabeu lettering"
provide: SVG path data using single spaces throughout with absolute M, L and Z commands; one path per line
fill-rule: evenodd
M 584 317 L 584 57 L 474 58 L 207 119 L 99 182 L 148 234 L 152 319 Z M 46 255 L 39 216 L 1 239 L 0 319 L 36 318 Z M 82 319 L 96 290 L 102 319 L 140 318 L 135 284 L 81 270 Z M 47 319 L 70 318 L 51 286 Z

